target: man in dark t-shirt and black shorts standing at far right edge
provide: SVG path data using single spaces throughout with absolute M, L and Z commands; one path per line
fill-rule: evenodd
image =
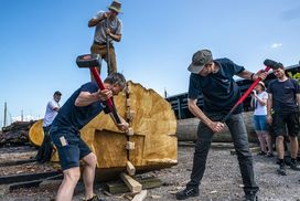
M 268 85 L 267 120 L 272 124 L 274 135 L 276 137 L 276 149 L 278 152 L 280 176 L 287 176 L 285 166 L 285 136 L 290 138 L 291 163 L 290 168 L 300 171 L 297 166 L 298 155 L 298 134 L 299 134 L 299 106 L 300 106 L 300 86 L 299 83 L 286 75 L 285 67 L 277 63 L 277 70 L 274 80 Z M 271 117 L 274 109 L 274 119 Z M 288 128 L 288 131 L 287 131 Z

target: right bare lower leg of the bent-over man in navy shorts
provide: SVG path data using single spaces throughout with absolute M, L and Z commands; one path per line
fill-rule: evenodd
M 85 169 L 83 172 L 83 179 L 84 179 L 84 184 L 85 184 L 85 199 L 88 200 L 93 198 L 94 191 L 94 179 L 95 179 L 95 168 L 97 163 L 97 158 L 96 155 L 90 152 L 86 157 L 83 158 L 85 161 Z

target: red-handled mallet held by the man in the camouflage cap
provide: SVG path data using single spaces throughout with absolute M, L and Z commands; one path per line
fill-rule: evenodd
M 264 70 L 264 72 L 268 72 L 270 68 L 272 70 L 277 70 L 277 62 L 272 61 L 272 60 L 265 60 L 264 64 L 266 65 L 266 68 Z M 259 81 L 261 81 L 260 77 L 258 77 L 257 80 L 255 80 L 255 82 L 249 86 L 249 88 L 245 92 L 245 94 L 236 102 L 236 104 L 234 105 L 234 107 L 229 110 L 229 113 L 223 118 L 222 123 L 225 123 L 228 117 L 234 113 L 234 110 L 236 109 L 236 107 L 242 104 L 246 97 L 248 97 L 248 95 L 253 92 L 254 87 L 259 83 Z

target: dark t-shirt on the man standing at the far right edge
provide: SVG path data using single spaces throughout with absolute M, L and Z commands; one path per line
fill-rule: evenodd
M 285 82 L 274 80 L 268 85 L 268 93 L 272 95 L 272 109 L 275 113 L 298 112 L 296 94 L 300 93 L 299 84 L 293 78 Z

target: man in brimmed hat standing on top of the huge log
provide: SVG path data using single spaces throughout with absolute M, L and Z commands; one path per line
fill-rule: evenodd
M 107 65 L 109 66 L 109 68 L 107 70 L 108 74 L 117 72 L 116 53 L 113 42 L 121 41 L 122 23 L 117 17 L 120 13 L 120 9 L 121 3 L 118 1 L 113 1 L 110 7 L 108 7 L 108 12 L 99 11 L 94 18 L 88 21 L 89 28 L 96 27 L 90 52 L 93 54 L 99 54 L 106 61 L 106 63 L 108 63 L 107 41 L 109 43 L 110 63 Z

